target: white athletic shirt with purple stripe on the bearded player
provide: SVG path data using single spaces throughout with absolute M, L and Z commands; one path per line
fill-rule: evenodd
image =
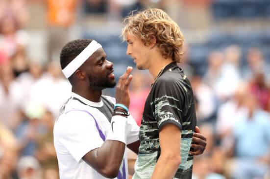
M 108 117 L 112 114 L 115 99 L 102 96 L 100 102 L 92 102 L 75 93 L 71 96 L 60 110 L 53 129 L 60 179 L 106 179 L 82 157 L 100 147 L 104 142 L 101 136 L 106 138 L 108 135 L 111 129 Z M 127 127 L 127 144 L 139 140 L 139 126 L 131 115 L 127 118 Z M 115 179 L 128 179 L 126 151 Z

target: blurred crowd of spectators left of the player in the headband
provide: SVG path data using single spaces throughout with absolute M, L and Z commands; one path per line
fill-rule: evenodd
M 26 0 L 0 0 L 0 179 L 59 179 L 53 125 L 70 83 L 30 59 Z

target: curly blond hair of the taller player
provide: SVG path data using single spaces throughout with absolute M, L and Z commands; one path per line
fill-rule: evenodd
M 155 37 L 156 45 L 165 59 L 172 58 L 177 63 L 181 62 L 184 37 L 179 26 L 161 9 L 148 8 L 135 13 L 133 11 L 123 21 L 123 41 L 129 33 L 148 46 Z

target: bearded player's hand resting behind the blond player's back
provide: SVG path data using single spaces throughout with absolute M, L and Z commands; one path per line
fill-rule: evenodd
M 191 148 L 194 149 L 193 152 L 189 152 L 190 155 L 200 155 L 203 153 L 205 147 L 206 147 L 206 138 L 200 134 L 199 127 L 195 127 L 195 133 L 193 133 L 193 138 L 192 138 L 192 144 Z

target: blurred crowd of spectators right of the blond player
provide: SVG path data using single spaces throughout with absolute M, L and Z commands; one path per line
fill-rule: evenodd
M 207 137 L 204 154 L 195 158 L 196 179 L 269 179 L 269 65 L 260 49 L 243 54 L 232 45 L 211 52 L 206 73 L 190 77 L 197 124 Z

